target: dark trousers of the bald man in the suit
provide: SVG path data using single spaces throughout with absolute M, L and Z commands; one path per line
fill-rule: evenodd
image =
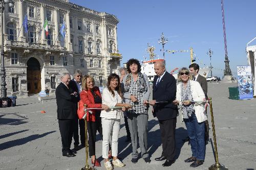
M 176 143 L 175 143 L 175 129 L 177 117 L 168 120 L 159 120 L 161 139 L 162 139 L 162 156 L 167 160 L 175 160 Z

